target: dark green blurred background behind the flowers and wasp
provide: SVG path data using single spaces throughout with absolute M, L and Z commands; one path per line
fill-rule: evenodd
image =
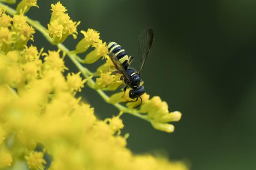
M 28 15 L 46 27 L 50 4 Z M 135 56 L 138 35 L 154 29 L 154 45 L 143 71 L 146 92 L 183 113 L 172 134 L 157 131 L 125 114 L 123 133 L 135 153 L 168 155 L 191 170 L 256 169 L 256 1 L 255 0 L 61 0 L 81 21 L 79 30 L 94 28 L 103 41 L 116 41 Z M 82 35 L 79 35 L 79 39 Z M 78 39 L 78 40 L 79 40 Z M 55 49 L 35 34 L 38 48 Z M 69 37 L 64 44 L 74 49 Z M 95 70 L 102 61 L 88 68 Z M 66 57 L 66 65 L 77 72 Z M 101 119 L 118 110 L 92 89 L 80 94 Z

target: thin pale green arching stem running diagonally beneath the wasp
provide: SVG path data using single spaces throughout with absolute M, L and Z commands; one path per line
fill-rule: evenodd
M 0 2 L 0 7 L 3 8 L 8 14 L 11 14 L 11 15 L 15 15 L 16 14 L 16 11 L 6 5 L 4 5 L 3 3 Z M 46 38 L 47 41 L 49 41 L 51 44 L 54 44 L 53 43 L 53 40 L 51 39 L 51 37 L 49 36 L 49 34 L 47 33 L 47 29 L 45 27 L 43 27 L 39 21 L 37 20 L 31 20 L 31 19 L 27 19 L 27 22 L 35 27 L 40 33 L 42 33 L 44 35 L 44 37 Z M 73 63 L 75 64 L 75 66 L 80 70 L 80 72 L 82 73 L 82 75 L 85 77 L 85 78 L 89 78 L 91 75 L 93 75 L 92 72 L 90 72 L 88 70 L 88 68 L 85 68 L 84 66 L 82 66 L 80 64 L 80 62 L 77 60 L 79 58 L 79 56 L 77 56 L 76 54 L 72 54 L 71 51 L 69 51 L 63 44 L 59 43 L 57 44 L 57 47 L 65 52 L 68 57 L 71 59 L 71 61 L 73 61 Z M 88 82 L 92 85 L 95 84 L 95 82 L 92 80 L 92 79 L 88 79 Z M 102 90 L 96 90 L 97 93 L 103 98 L 103 100 L 105 102 L 108 102 L 110 103 L 110 97 L 108 95 L 106 95 Z M 147 118 L 147 116 L 145 115 L 141 115 L 139 114 L 138 110 L 136 109 L 129 109 L 127 107 L 124 107 L 122 106 L 121 104 L 113 104 L 117 109 L 119 109 L 121 112 L 124 112 L 124 113 L 129 113 L 129 114 L 132 114 L 133 116 L 137 116 L 141 119 L 144 119 L 148 122 L 152 122 L 151 119 Z

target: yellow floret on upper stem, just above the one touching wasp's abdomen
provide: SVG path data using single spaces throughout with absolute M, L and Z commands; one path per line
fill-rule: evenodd
M 100 40 L 100 33 L 94 29 L 88 28 L 87 31 L 82 30 L 81 33 L 84 35 L 84 38 L 77 43 L 75 48 L 76 54 L 86 52 L 91 45 L 95 45 Z

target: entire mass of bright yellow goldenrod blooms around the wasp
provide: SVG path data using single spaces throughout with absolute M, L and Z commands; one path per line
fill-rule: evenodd
M 36 0 L 22 0 L 24 7 L 20 5 L 20 8 L 29 10 L 37 6 L 32 2 Z M 0 7 L 4 7 L 2 3 Z M 98 32 L 82 31 L 84 38 L 72 52 L 61 44 L 57 51 L 44 52 L 27 44 L 35 31 L 28 25 L 24 11 L 15 15 L 9 9 L 6 10 L 13 17 L 0 8 L 0 169 L 187 170 L 182 162 L 169 162 L 164 157 L 149 154 L 134 155 L 126 148 L 128 135 L 120 133 L 124 128 L 120 118 L 123 112 L 137 115 L 151 122 L 155 129 L 167 132 L 173 131 L 168 122 L 178 121 L 181 114 L 169 113 L 167 103 L 160 97 L 149 99 L 149 95 L 143 95 L 143 105 L 136 110 L 133 109 L 136 102 L 127 104 L 127 108 L 117 104 L 130 100 L 127 92 L 110 98 L 103 95 L 101 89 L 115 90 L 123 82 L 119 75 L 111 74 L 113 65 Z M 69 19 L 62 4 L 52 5 L 51 10 L 48 25 L 51 42 L 57 44 L 68 35 L 76 34 L 78 23 Z M 78 58 L 76 54 L 90 47 L 94 50 L 84 60 Z M 65 54 L 80 72 L 64 75 L 68 70 Z M 106 63 L 95 74 L 79 63 L 93 63 L 100 57 L 106 59 Z M 96 82 L 92 80 L 95 76 L 98 76 Z M 120 114 L 99 120 L 94 109 L 81 97 L 76 97 L 86 82 L 107 102 L 121 108 Z M 39 145 L 42 150 L 37 149 Z

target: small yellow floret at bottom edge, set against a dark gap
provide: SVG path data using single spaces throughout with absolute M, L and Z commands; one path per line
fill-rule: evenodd
M 44 170 L 44 153 L 37 151 L 30 151 L 29 156 L 25 156 L 30 170 Z

